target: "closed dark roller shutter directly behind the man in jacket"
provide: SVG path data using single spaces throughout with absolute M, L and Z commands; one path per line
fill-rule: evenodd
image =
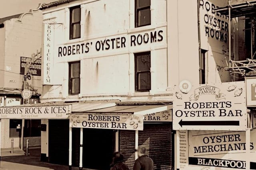
M 149 147 L 149 156 L 154 161 L 154 170 L 171 170 L 172 127 L 171 123 L 144 123 L 138 133 L 138 145 Z

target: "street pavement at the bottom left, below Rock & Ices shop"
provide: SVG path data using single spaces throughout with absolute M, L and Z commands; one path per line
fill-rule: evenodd
M 10 149 L 1 149 L 0 170 L 68 170 L 68 166 L 50 164 L 40 161 L 40 148 L 30 148 L 29 154 L 19 148 L 14 148 L 11 154 Z M 72 167 L 72 170 L 78 170 Z M 85 168 L 83 168 L 85 170 Z

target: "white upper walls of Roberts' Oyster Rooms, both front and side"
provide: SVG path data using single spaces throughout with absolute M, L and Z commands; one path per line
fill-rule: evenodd
M 90 3 L 89 3 L 90 2 Z M 227 23 L 225 17 L 212 13 L 214 6 L 227 1 L 200 0 L 200 40 L 206 53 L 206 83 L 232 81 L 228 71 L 228 39 L 220 41 L 206 34 L 205 27 L 214 31 L 227 30 L 205 21 L 215 17 Z M 186 4 L 186 5 L 184 5 Z M 206 7 L 206 4 L 209 5 Z M 81 5 L 81 38 L 69 40 L 69 8 Z M 170 100 L 172 89 L 182 80 L 199 84 L 199 43 L 197 1 L 151 0 L 151 25 L 134 28 L 134 0 L 74 1 L 43 10 L 44 23 L 54 27 L 53 84 L 45 85 L 42 102 L 77 100 Z M 204 7 L 204 8 L 203 8 Z M 208 10 L 206 10 L 206 8 Z M 117 15 L 118 14 L 118 15 Z M 234 26 L 233 26 L 234 25 Z M 232 23 L 232 30 L 237 24 Z M 131 36 L 162 31 L 163 40 L 131 45 Z M 210 32 L 209 32 L 210 33 Z M 238 36 L 238 32 L 236 32 Z M 232 35 L 233 36 L 233 35 Z M 102 49 L 97 41 L 125 37 L 123 48 Z M 233 38 L 233 37 L 232 37 Z M 238 37 L 237 37 L 238 39 Z M 237 41 L 237 40 L 236 40 Z M 88 52 L 60 55 L 59 47 L 88 43 Z M 114 42 L 115 43 L 115 42 Z M 235 47 L 238 46 L 235 43 Z M 233 51 L 233 44 L 232 51 Z M 96 50 L 96 48 L 100 50 Z M 62 50 L 61 50 L 62 51 Z M 151 51 L 152 90 L 134 91 L 134 53 Z M 238 51 L 235 51 L 237 54 Z M 235 57 L 232 52 L 232 57 Z M 68 62 L 81 61 L 81 93 L 68 96 Z M 167 96 L 167 97 L 166 97 Z

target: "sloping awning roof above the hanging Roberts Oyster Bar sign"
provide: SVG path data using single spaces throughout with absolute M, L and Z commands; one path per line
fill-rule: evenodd
M 134 115 L 148 115 L 172 109 L 172 105 L 128 105 L 114 106 L 88 111 L 72 111 L 72 113 L 132 113 Z

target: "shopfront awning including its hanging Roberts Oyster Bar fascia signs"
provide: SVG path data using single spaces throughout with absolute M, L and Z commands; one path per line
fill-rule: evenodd
M 113 106 L 72 111 L 70 127 L 143 130 L 144 121 L 171 122 L 172 105 Z

